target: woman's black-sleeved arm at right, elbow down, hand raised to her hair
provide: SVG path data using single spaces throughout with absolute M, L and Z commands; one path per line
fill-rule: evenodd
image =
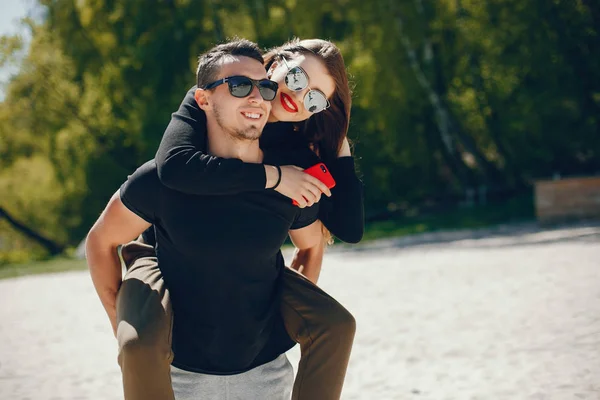
M 340 240 L 358 243 L 365 230 L 363 184 L 356 176 L 347 140 L 339 155 L 328 165 L 336 185 L 331 197 L 321 201 L 319 219 Z

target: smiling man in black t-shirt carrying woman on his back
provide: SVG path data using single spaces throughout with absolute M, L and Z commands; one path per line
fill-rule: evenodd
M 242 40 L 217 46 L 202 60 L 206 65 L 199 68 L 204 71 L 199 86 L 213 88 L 198 89 L 195 97 L 206 113 L 210 154 L 303 168 L 314 161 L 286 159 L 259 148 L 271 108 L 263 96 L 277 88 L 266 80 L 255 44 Z M 233 76 L 250 78 L 246 96 L 228 85 Z M 197 382 L 202 382 L 203 399 L 225 398 L 224 390 L 233 398 L 289 397 L 289 363 L 277 346 L 267 346 L 279 309 L 279 249 L 288 231 L 299 249 L 320 246 L 317 211 L 317 206 L 295 207 L 268 190 L 222 196 L 176 192 L 160 184 L 153 161 L 144 164 L 113 195 L 86 242 L 92 280 L 113 330 L 117 332 L 121 284 L 117 246 L 154 225 L 158 262 L 177 316 L 172 336 L 177 397 L 197 397 Z M 127 324 L 121 319 L 120 324 Z M 135 330 L 131 325 L 120 325 L 119 334 Z M 232 379 L 225 384 L 207 380 L 210 376 Z

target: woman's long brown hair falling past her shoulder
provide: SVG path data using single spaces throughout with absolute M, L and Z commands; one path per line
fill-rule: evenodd
M 348 134 L 352 90 L 346 74 L 346 65 L 340 49 L 328 40 L 292 39 L 282 46 L 267 51 L 264 55 L 268 69 L 281 57 L 293 57 L 297 54 L 312 54 L 318 57 L 335 83 L 335 90 L 329 98 L 330 107 L 312 115 L 306 121 L 295 123 L 298 130 L 308 139 L 313 151 L 325 164 L 334 161 Z M 332 243 L 331 233 L 323 226 L 327 243 Z

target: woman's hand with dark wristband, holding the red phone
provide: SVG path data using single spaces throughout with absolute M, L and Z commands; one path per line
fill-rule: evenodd
M 277 169 L 265 165 L 267 171 L 267 188 L 277 182 Z M 281 166 L 281 182 L 275 191 L 298 202 L 298 207 L 310 207 L 321 200 L 321 194 L 331 196 L 331 191 L 323 182 L 305 174 L 302 168 L 294 165 Z M 274 171 L 274 172 L 273 172 Z

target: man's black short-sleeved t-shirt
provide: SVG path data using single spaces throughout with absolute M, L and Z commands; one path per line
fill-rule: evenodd
M 265 162 L 307 168 L 314 164 L 310 154 L 265 153 Z M 290 229 L 316 221 L 318 205 L 301 209 L 273 190 L 184 194 L 160 183 L 154 160 L 120 194 L 154 224 L 173 305 L 173 365 L 233 374 L 275 359 L 282 352 L 270 342 L 279 318 L 280 247 Z

